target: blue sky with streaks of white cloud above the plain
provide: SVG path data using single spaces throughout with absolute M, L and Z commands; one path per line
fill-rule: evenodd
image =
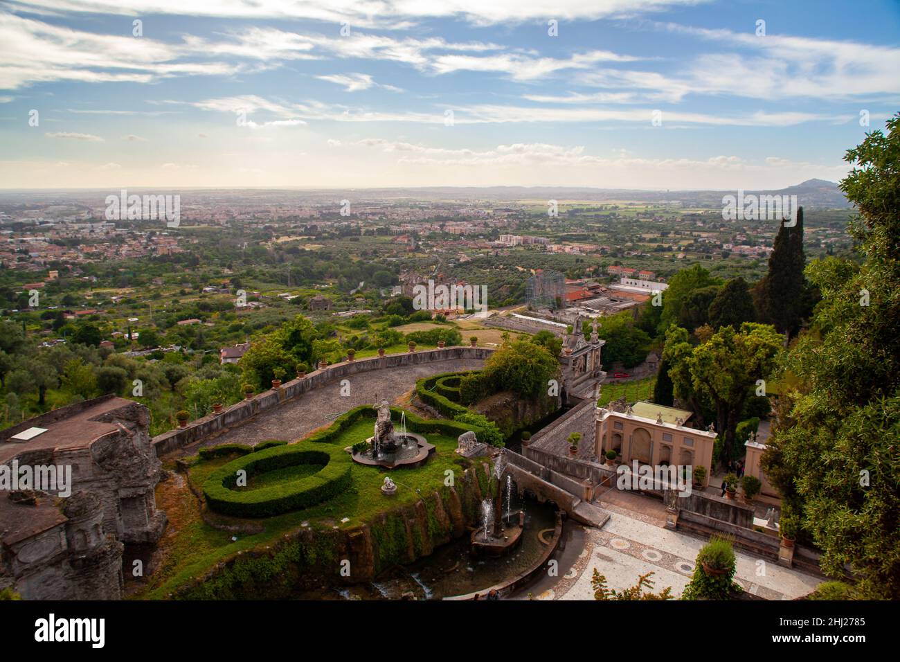
M 900 0 L 0 4 L 0 188 L 837 181 Z

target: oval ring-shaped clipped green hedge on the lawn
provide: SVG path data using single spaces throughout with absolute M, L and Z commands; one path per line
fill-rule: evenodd
M 249 478 L 302 464 L 321 464 L 324 467 L 312 476 L 293 483 L 241 492 L 231 489 L 237 482 L 240 469 L 247 471 Z M 203 496 L 215 512 L 234 517 L 271 517 L 309 508 L 345 492 L 351 483 L 351 467 L 353 459 L 344 449 L 310 440 L 300 441 L 249 453 L 230 461 L 206 479 Z

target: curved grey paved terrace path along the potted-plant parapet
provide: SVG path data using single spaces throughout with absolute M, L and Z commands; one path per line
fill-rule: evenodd
M 341 395 L 341 380 L 302 394 L 275 409 L 259 413 L 256 417 L 225 431 L 218 437 L 204 440 L 201 446 L 219 446 L 226 443 L 256 445 L 266 440 L 296 440 L 311 431 L 328 425 L 340 414 L 360 404 L 375 404 L 376 398 L 386 398 L 393 403 L 402 394 L 414 388 L 421 377 L 455 370 L 473 370 L 484 366 L 478 358 L 454 359 L 423 363 L 416 366 L 386 367 L 381 370 L 361 372 L 347 377 L 350 394 Z M 182 452 L 193 455 L 198 446 L 190 446 Z

